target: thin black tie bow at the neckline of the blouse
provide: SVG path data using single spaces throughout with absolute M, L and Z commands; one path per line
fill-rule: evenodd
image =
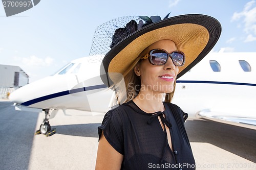
M 164 158 L 164 155 L 165 155 L 165 151 L 166 151 L 166 148 L 168 146 L 168 139 L 167 139 L 167 132 L 166 132 L 165 125 L 170 129 L 170 128 L 172 128 L 172 124 L 170 124 L 165 119 L 162 112 L 158 112 L 156 114 L 151 115 L 150 118 L 147 120 L 147 124 L 150 125 L 153 122 L 153 120 L 155 120 L 155 118 L 158 117 L 158 116 L 160 116 L 161 122 L 163 124 L 164 135 L 165 135 L 164 148 L 163 148 L 163 151 L 162 151 L 162 158 L 161 158 L 161 161 L 160 161 L 160 164 L 162 164 L 163 163 L 163 158 Z

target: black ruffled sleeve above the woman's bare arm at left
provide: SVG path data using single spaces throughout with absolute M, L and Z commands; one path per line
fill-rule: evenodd
M 102 131 L 112 147 L 123 155 L 123 124 L 121 115 L 115 109 L 105 114 L 101 126 L 98 127 L 99 139 Z

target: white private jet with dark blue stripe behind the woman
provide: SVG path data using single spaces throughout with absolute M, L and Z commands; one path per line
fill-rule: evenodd
M 16 110 L 44 112 L 39 133 L 51 131 L 49 118 L 68 109 L 106 113 L 115 91 L 100 78 L 103 55 L 71 61 L 53 76 L 11 93 Z M 256 129 L 256 53 L 211 52 L 177 80 L 172 103 L 190 119 L 210 119 Z

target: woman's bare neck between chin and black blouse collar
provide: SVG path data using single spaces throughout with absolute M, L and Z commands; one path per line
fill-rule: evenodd
M 146 113 L 164 111 L 163 93 L 153 91 L 140 91 L 133 99 L 134 103 Z

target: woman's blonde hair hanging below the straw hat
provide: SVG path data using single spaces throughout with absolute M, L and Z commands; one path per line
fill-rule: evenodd
M 140 77 L 135 74 L 134 68 L 140 63 L 140 59 L 146 54 L 148 47 L 145 48 L 145 50 L 129 66 L 129 69 L 127 69 L 124 72 L 123 79 L 124 79 L 124 85 L 125 85 L 126 91 L 120 90 L 120 88 L 114 87 L 116 95 L 113 101 L 113 105 L 116 105 L 116 104 L 120 105 L 122 103 L 129 102 L 134 98 L 136 98 L 136 96 L 138 95 L 141 87 L 141 82 L 140 82 Z M 176 88 L 176 80 L 174 82 L 174 90 L 170 93 L 165 94 L 164 102 L 168 102 L 168 103 L 172 102 L 175 88 Z

